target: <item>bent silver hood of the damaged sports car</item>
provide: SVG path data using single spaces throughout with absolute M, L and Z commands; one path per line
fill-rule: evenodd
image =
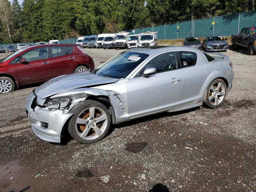
M 53 78 L 36 88 L 35 93 L 40 98 L 47 98 L 66 90 L 99 84 L 109 84 L 117 82 L 118 80 L 119 79 L 116 78 L 97 76 L 90 72 L 80 72 Z

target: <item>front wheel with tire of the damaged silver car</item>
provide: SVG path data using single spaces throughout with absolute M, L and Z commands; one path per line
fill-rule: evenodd
M 108 108 L 94 100 L 85 100 L 70 110 L 74 114 L 68 123 L 70 135 L 82 144 L 101 140 L 111 125 Z

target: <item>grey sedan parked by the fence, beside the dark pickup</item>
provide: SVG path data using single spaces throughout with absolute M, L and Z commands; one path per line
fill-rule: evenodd
M 228 50 L 227 39 L 222 36 L 208 36 L 203 40 L 204 51 L 226 51 Z

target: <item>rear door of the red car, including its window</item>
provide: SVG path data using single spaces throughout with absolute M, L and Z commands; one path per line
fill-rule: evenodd
M 52 75 L 73 73 L 74 67 L 78 64 L 77 55 L 73 52 L 74 46 L 51 46 L 52 50 Z

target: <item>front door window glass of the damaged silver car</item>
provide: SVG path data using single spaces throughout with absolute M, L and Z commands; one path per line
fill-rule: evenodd
M 177 60 L 175 52 L 160 54 L 150 60 L 145 66 L 146 68 L 156 68 L 156 73 L 166 72 L 177 68 Z

